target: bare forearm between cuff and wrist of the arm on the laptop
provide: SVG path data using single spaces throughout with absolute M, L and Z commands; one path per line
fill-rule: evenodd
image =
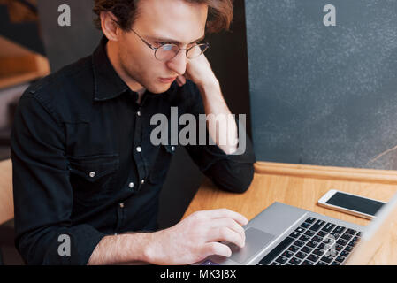
M 151 233 L 122 233 L 106 236 L 95 247 L 88 265 L 148 263 Z

